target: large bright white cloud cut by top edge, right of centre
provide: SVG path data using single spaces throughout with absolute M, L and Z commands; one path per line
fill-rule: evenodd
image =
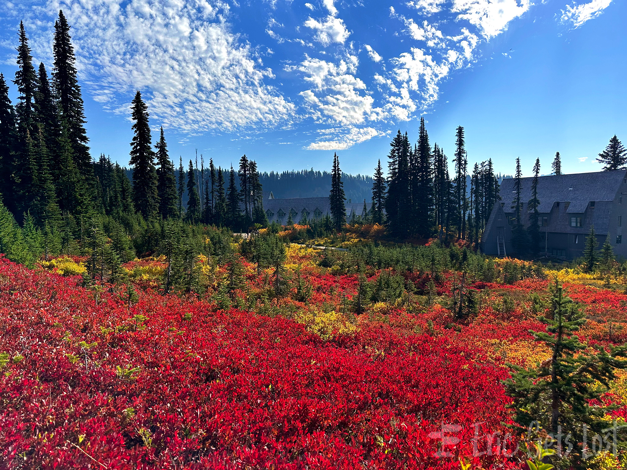
M 451 12 L 459 13 L 458 21 L 469 21 L 489 39 L 507 29 L 507 24 L 529 10 L 529 6 L 530 0 L 453 0 Z

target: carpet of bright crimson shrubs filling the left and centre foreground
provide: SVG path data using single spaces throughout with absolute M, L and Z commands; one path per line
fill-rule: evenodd
M 456 335 L 372 322 L 324 342 L 78 283 L 0 259 L 0 468 L 519 467 L 502 455 L 507 370 Z

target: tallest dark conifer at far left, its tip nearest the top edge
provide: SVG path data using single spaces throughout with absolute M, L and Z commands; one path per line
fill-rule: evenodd
M 61 120 L 67 130 L 75 167 L 88 180 L 92 174 L 92 157 L 89 154 L 85 130 L 85 107 L 80 85 L 76 78 L 76 58 L 71 43 L 70 25 L 63 11 L 55 21 L 53 42 L 53 81 L 61 108 Z

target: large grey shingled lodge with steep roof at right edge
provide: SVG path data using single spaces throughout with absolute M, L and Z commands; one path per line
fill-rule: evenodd
M 533 178 L 522 178 L 522 222 L 529 227 Z M 481 239 L 485 254 L 507 256 L 513 253 L 512 209 L 516 192 L 515 179 L 503 179 L 501 201 L 492 214 Z M 582 256 L 590 227 L 603 245 L 609 234 L 617 259 L 627 258 L 627 240 L 623 241 L 623 224 L 627 223 L 627 170 L 549 175 L 538 178 L 540 253 L 559 259 Z

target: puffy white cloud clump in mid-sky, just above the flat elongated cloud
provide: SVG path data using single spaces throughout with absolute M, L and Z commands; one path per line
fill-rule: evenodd
M 298 70 L 312 85 L 300 96 L 319 122 L 354 125 L 382 118 L 381 108 L 374 108 L 374 98 L 366 94 L 366 83 L 352 75 L 357 71 L 356 56 L 349 55 L 337 65 L 307 56 Z

